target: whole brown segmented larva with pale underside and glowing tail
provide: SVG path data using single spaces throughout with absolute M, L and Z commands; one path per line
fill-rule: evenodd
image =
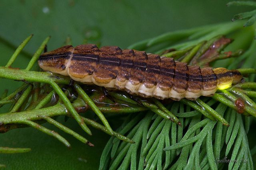
M 38 59 L 46 71 L 70 76 L 84 84 L 126 91 L 144 98 L 196 100 L 211 96 L 242 79 L 237 70 L 200 68 L 172 58 L 121 50 L 115 46 L 67 45 L 44 53 Z

